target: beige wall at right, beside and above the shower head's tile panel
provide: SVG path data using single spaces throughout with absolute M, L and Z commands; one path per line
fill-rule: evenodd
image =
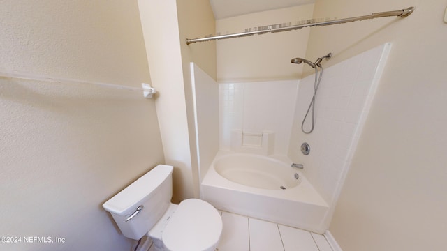
M 447 245 L 447 2 L 317 0 L 314 17 L 409 6 L 416 10 L 404 19 L 318 27 L 309 37 L 308 58 L 334 52 L 326 66 L 392 43 L 330 225 L 344 251 Z

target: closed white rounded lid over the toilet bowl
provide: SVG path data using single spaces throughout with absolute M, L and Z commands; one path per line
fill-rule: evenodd
M 202 251 L 215 247 L 221 233 L 222 219 L 216 208 L 200 199 L 185 199 L 171 216 L 161 238 L 170 251 Z

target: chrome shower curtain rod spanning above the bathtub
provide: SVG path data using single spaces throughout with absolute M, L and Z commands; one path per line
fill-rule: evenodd
M 265 33 L 275 33 L 275 32 L 282 32 L 282 31 L 291 31 L 294 29 L 301 29 L 304 27 L 312 27 L 312 26 L 325 26 L 325 25 L 332 25 L 332 24 L 343 24 L 346 22 L 354 22 L 354 21 L 360 21 L 360 20 L 368 20 L 368 19 L 374 19 L 377 17 L 408 17 L 411 13 L 413 13 L 414 7 L 411 6 L 409 8 L 405 8 L 403 10 L 393 10 L 393 11 L 386 11 L 381 13 L 372 13 L 371 15 L 364 15 L 360 17 L 349 17 L 349 18 L 343 18 L 339 20 L 330 20 L 330 21 L 324 21 L 324 22 L 309 22 L 307 24 L 298 24 L 298 25 L 292 25 L 292 26 L 285 26 L 280 28 L 273 28 L 272 25 L 265 26 L 266 29 L 258 30 L 258 31 L 248 31 L 248 32 L 242 32 L 242 33 L 233 33 L 228 35 L 220 35 L 220 36 L 209 36 L 205 38 L 193 38 L 189 39 L 186 38 L 186 45 L 190 45 L 191 43 L 196 42 L 205 42 L 205 41 L 211 41 L 211 40 L 220 40 L 220 39 L 227 39 L 227 38 L 240 38 L 244 36 L 251 36 L 251 35 L 261 35 Z

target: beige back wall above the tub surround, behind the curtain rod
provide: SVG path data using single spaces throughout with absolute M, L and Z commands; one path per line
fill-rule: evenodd
M 271 24 L 291 24 L 312 18 L 314 5 L 306 4 L 279 10 L 228 17 L 216 21 L 222 34 L 240 33 L 245 29 Z M 309 29 L 267 33 L 245 38 L 217 41 L 217 81 L 254 82 L 298 79 L 302 65 L 291 63 L 304 57 Z

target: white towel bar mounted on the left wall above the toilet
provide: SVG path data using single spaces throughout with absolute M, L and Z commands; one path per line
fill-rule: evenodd
M 20 73 L 17 71 L 8 72 L 6 70 L 0 69 L 0 77 L 10 77 L 16 79 L 28 79 L 28 80 L 36 80 L 36 81 L 44 81 L 44 82 L 57 82 L 57 83 L 78 83 L 78 84 L 93 84 L 96 86 L 111 88 L 111 89 L 121 89 L 127 91 L 142 91 L 143 96 L 145 98 L 152 98 L 152 94 L 156 93 L 155 89 L 152 88 L 149 84 L 142 83 L 142 88 L 131 87 L 131 86 L 122 86 L 119 84 L 108 84 L 101 82 L 87 82 L 78 79 L 64 79 L 64 78 L 56 78 L 56 77 L 47 77 L 42 75 L 35 75 L 31 73 Z

